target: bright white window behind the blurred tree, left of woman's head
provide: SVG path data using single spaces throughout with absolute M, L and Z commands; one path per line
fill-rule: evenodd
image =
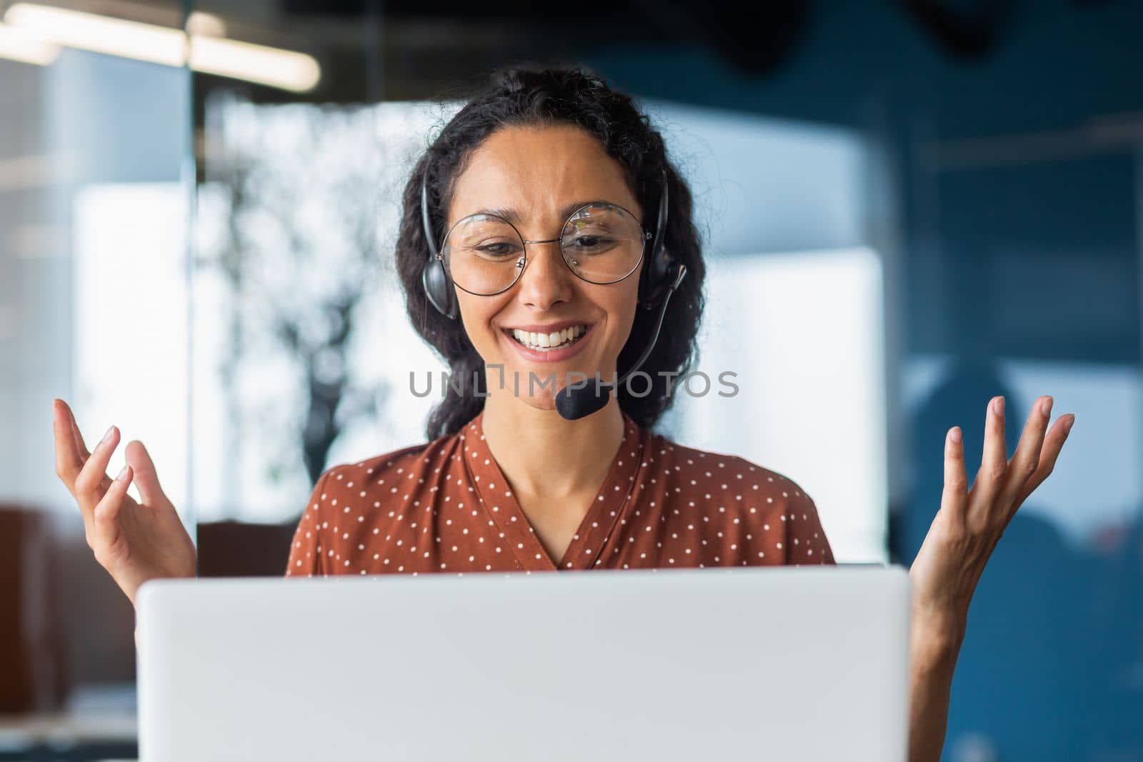
M 303 353 L 282 345 L 274 326 L 291 318 L 321 330 L 330 295 L 365 289 L 344 356 L 359 407 L 351 410 L 353 401 L 341 400 L 349 412 L 325 467 L 424 441 L 425 418 L 440 402 L 446 367 L 410 324 L 395 276 L 376 274 L 362 282 L 351 274 L 359 266 L 359 244 L 345 234 L 346 219 L 365 215 L 360 219 L 375 231 L 385 273 L 392 272 L 400 189 L 439 119 L 446 119 L 439 104 L 329 109 L 227 98 L 208 104 L 215 142 L 198 196 L 202 266 L 194 273 L 192 326 L 200 521 L 289 521 L 305 507 L 313 488 L 302 462 L 306 366 Z M 258 194 L 242 196 L 240 209 L 232 207 L 238 196 L 226 184 L 233 177 L 227 162 L 234 161 L 259 178 Z M 353 191 L 357 183 L 367 190 Z M 224 273 L 235 230 L 248 262 L 240 284 Z M 287 234 L 297 243 L 282 246 Z M 235 321 L 240 344 L 234 343 Z M 410 371 L 418 388 L 433 375 L 432 395 L 409 392 Z M 360 407 L 362 394 L 376 408 Z

